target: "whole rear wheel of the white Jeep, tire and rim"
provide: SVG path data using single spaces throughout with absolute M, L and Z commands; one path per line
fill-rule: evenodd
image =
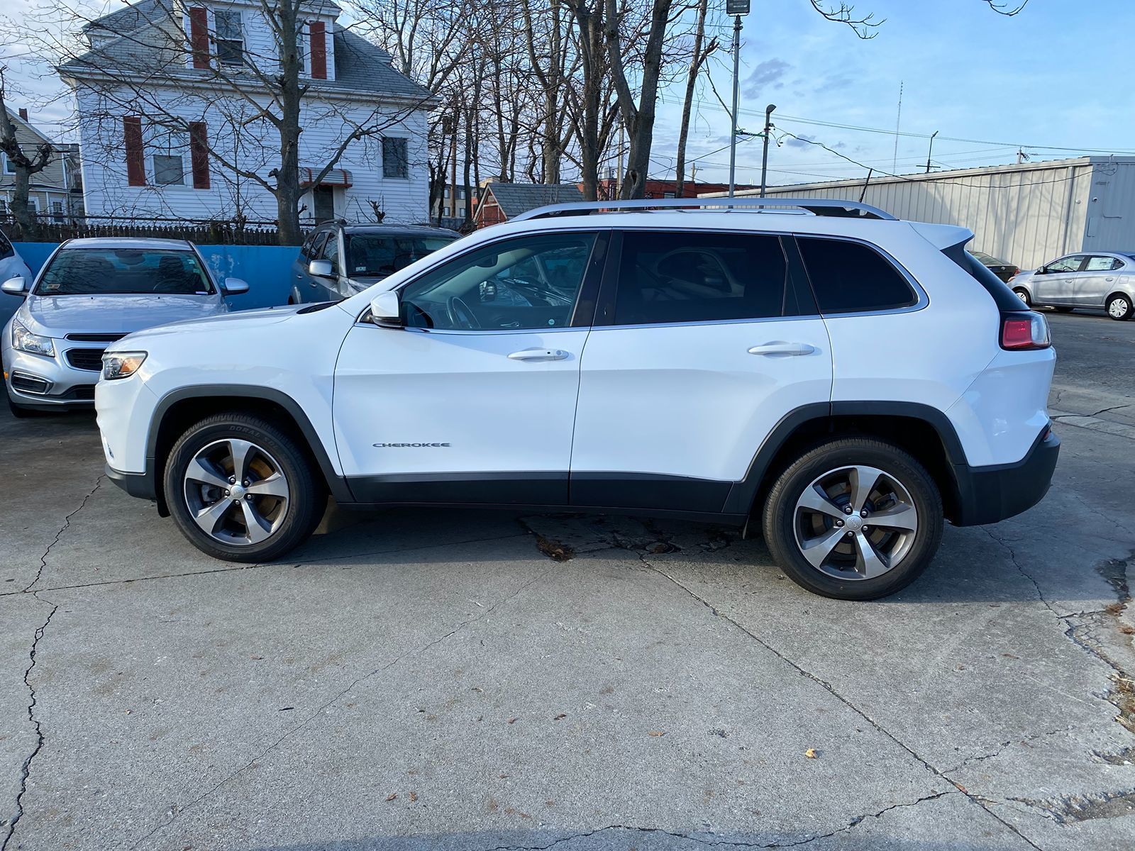
M 926 470 L 891 444 L 823 444 L 781 473 L 765 503 L 765 542 L 798 584 L 844 600 L 906 588 L 942 539 L 942 498 Z

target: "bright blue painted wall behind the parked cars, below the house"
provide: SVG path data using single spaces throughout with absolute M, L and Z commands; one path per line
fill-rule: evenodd
M 35 275 L 58 243 L 15 243 L 15 246 Z M 249 281 L 247 293 L 228 297 L 228 305 L 233 310 L 287 304 L 287 294 L 292 288 L 292 263 L 300 253 L 299 248 L 279 245 L 199 245 L 197 251 L 218 280 L 243 278 Z M 3 319 L 7 320 L 7 317 Z

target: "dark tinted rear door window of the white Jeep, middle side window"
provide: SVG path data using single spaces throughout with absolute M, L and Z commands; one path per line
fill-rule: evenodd
M 614 325 L 780 317 L 787 281 L 776 236 L 627 230 Z

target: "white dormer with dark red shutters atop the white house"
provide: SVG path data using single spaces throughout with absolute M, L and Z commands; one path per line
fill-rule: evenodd
M 207 2 L 186 0 L 182 15 L 186 67 L 218 68 L 229 74 L 255 66 L 270 73 L 279 65 L 279 47 L 272 27 L 255 0 Z M 299 50 L 302 74 L 311 79 L 335 79 L 335 40 L 339 8 L 327 0 L 312 0 L 301 7 L 303 24 Z

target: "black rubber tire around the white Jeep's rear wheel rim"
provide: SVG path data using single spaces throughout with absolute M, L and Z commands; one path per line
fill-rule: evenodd
M 875 467 L 894 477 L 908 492 L 917 512 L 917 529 L 910 533 L 910 542 L 906 545 L 905 553 L 897 556 L 898 563 L 881 575 L 869 579 L 856 579 L 852 572 L 842 570 L 834 571 L 840 576 L 830 575 L 813 566 L 797 542 L 797 524 L 801 522 L 797 516 L 797 503 L 805 489 L 831 471 L 852 465 Z M 848 525 L 851 524 L 850 519 L 847 522 Z M 856 522 L 869 524 L 871 520 L 868 516 L 866 521 L 857 519 Z M 831 524 L 842 526 L 843 521 L 831 521 Z M 871 438 L 832 440 L 805 452 L 780 474 L 764 506 L 765 542 L 776 564 L 802 588 L 840 600 L 874 600 L 909 585 L 926 570 L 938 553 L 942 541 L 942 497 L 926 469 L 899 447 Z M 884 542 L 889 540 L 885 537 L 889 533 L 877 528 L 865 534 L 882 534 Z M 835 538 L 839 537 L 836 531 Z M 852 545 L 844 541 L 836 544 L 838 548 L 844 546 L 850 548 Z M 840 557 L 836 550 L 832 553 Z M 854 561 L 852 556 L 847 557 Z

